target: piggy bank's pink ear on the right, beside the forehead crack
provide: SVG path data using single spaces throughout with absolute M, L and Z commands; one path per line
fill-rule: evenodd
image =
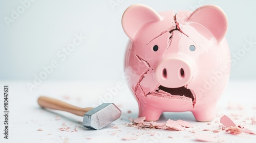
M 188 21 L 206 27 L 218 42 L 222 41 L 227 32 L 227 17 L 221 8 L 214 5 L 199 7 L 189 16 Z

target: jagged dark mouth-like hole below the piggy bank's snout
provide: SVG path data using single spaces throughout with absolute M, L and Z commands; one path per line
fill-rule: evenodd
M 185 96 L 185 97 L 191 98 L 192 101 L 194 101 L 193 94 L 191 93 L 191 91 L 189 89 L 185 88 L 184 86 L 180 87 L 180 88 L 165 88 L 162 85 L 160 85 L 160 87 L 158 89 L 162 90 L 164 92 L 167 92 L 171 95 Z M 157 90 L 157 92 L 158 92 L 158 90 Z

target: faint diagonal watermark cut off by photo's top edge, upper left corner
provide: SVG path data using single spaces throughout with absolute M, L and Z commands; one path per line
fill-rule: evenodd
M 27 9 L 30 8 L 31 4 L 34 3 L 36 0 L 20 0 L 20 5 L 16 9 L 11 9 L 11 15 L 10 17 L 5 16 L 4 20 L 8 27 L 10 27 L 10 24 L 12 22 L 15 22 L 20 15 L 22 15 Z

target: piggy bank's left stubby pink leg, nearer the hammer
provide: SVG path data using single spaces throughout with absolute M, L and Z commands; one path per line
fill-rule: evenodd
M 139 117 L 146 117 L 146 121 L 157 121 L 162 111 L 151 106 L 140 105 Z

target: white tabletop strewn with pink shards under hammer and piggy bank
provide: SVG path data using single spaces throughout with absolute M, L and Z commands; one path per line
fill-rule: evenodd
M 123 84 L 112 98 L 104 98 L 109 93 L 108 88 Z M 9 139 L 4 139 L 3 117 L 3 88 L 9 85 Z M 165 112 L 159 122 L 184 120 L 193 125 L 184 131 L 170 131 L 160 129 L 139 130 L 126 127 L 130 118 L 137 118 L 138 105 L 125 81 L 72 81 L 50 82 L 44 81 L 30 93 L 26 81 L 0 81 L 0 142 L 197 142 L 196 134 L 209 134 L 222 142 L 255 142 L 256 135 L 241 133 L 232 135 L 218 130 L 220 117 L 227 115 L 235 123 L 256 131 L 256 125 L 251 119 L 256 119 L 256 81 L 229 81 L 228 87 L 218 102 L 217 117 L 208 125 L 205 122 L 196 122 L 190 112 Z M 56 110 L 46 110 L 39 107 L 37 98 L 40 95 L 50 96 L 66 101 L 76 106 L 97 106 L 99 99 L 115 103 L 121 110 L 121 118 L 101 130 L 91 130 L 82 126 L 82 117 L 71 113 Z M 100 98 L 101 97 L 101 98 Z M 131 112 L 128 112 L 131 111 Z M 60 131 L 65 123 L 71 129 Z M 75 131 L 77 128 L 77 131 Z M 42 131 L 37 131 L 41 129 Z M 209 131 L 203 131 L 209 129 Z M 194 131 L 195 133 L 191 133 Z M 132 136 L 133 140 L 122 140 L 123 137 Z M 168 137 L 172 136 L 172 138 Z

